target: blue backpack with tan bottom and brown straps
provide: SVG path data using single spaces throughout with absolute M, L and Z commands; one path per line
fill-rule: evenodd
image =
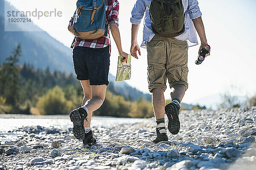
M 94 40 L 107 36 L 105 0 L 78 0 L 73 31 L 76 37 Z

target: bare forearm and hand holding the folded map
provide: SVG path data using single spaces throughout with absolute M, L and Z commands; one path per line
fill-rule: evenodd
M 116 42 L 116 47 L 118 49 L 119 55 L 122 57 L 125 57 L 125 59 L 122 59 L 122 62 L 127 62 L 128 59 L 128 54 L 122 51 L 122 45 L 121 45 L 121 38 L 120 38 L 120 33 L 119 33 L 119 28 L 116 23 L 109 24 L 111 34 L 113 36 L 113 39 Z

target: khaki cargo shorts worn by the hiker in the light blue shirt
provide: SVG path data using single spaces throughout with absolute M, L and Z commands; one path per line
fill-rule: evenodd
M 170 88 L 185 85 L 188 88 L 188 44 L 175 38 L 155 35 L 147 42 L 148 52 L 148 89 L 166 90 L 166 79 Z

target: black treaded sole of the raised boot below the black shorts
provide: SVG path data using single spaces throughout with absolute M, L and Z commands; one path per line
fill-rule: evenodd
M 81 116 L 79 111 L 75 110 L 70 112 L 70 120 L 73 122 L 73 133 L 76 139 L 82 140 L 84 139 L 84 126 L 81 121 Z

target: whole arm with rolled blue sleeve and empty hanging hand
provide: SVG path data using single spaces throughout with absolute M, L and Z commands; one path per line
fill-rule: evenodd
M 140 54 L 140 46 L 137 43 L 137 34 L 141 20 L 144 16 L 147 6 L 144 0 L 137 0 L 131 11 L 131 55 L 138 59 L 137 51 Z

